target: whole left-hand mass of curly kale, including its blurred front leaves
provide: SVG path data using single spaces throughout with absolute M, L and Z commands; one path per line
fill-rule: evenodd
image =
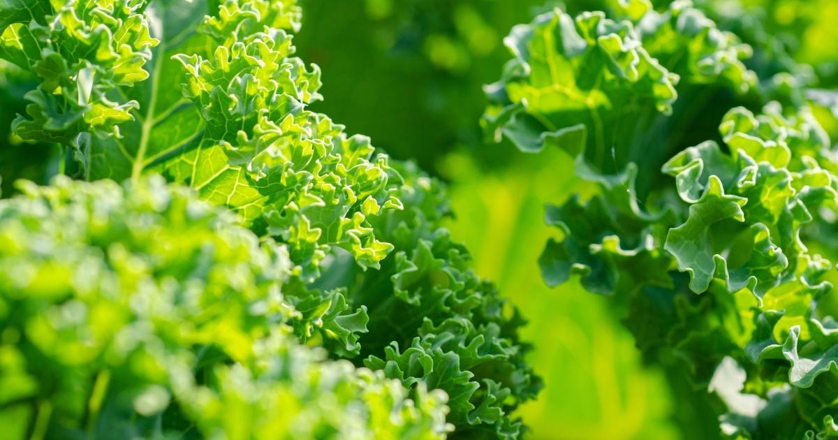
M 7 246 L 0 298 L 31 310 L 0 320 L 8 369 L 55 382 L 0 405 L 4 427 L 520 436 L 512 412 L 540 388 L 524 321 L 442 227 L 439 182 L 308 110 L 320 72 L 293 56 L 294 1 L 0 8 L 0 57 L 36 85 L 11 140 L 102 180 L 3 202 L 33 246 Z

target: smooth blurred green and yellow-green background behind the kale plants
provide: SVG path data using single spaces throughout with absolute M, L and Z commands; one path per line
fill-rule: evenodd
M 503 38 L 512 26 L 549 8 L 578 13 L 613 1 L 305 0 L 295 43 L 304 60 L 323 69 L 326 99 L 313 110 L 446 180 L 458 215 L 449 225 L 453 236 L 466 241 L 477 271 L 530 320 L 524 331 L 536 347 L 530 361 L 546 382 L 539 399 L 520 408 L 530 437 L 713 437 L 715 421 L 681 407 L 674 396 L 683 391 L 671 389 L 667 372 L 643 365 L 620 324 L 624 311 L 572 283 L 549 289 L 542 282 L 536 261 L 551 234 L 541 222 L 543 205 L 591 191 L 574 177 L 572 159 L 484 142 L 478 126 L 486 103 L 481 85 L 496 80 L 510 58 Z M 747 13 L 794 60 L 812 65 L 821 80 L 816 86 L 838 84 L 835 0 L 696 3 L 731 27 Z M 10 136 L 32 86 L 22 72 L 0 65 L 4 195 L 15 179 L 44 183 L 59 163 L 56 148 Z M 820 114 L 835 138 L 828 109 Z

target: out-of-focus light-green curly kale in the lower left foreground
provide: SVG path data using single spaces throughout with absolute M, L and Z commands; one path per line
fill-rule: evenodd
M 381 372 L 294 340 L 286 249 L 229 212 L 163 179 L 21 189 L 0 203 L 0 413 L 12 437 L 447 431 L 441 391 L 422 383 L 408 399 Z

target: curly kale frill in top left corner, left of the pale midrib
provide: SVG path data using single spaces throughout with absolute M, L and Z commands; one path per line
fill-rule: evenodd
M 24 140 L 65 142 L 81 153 L 81 133 L 118 135 L 137 101 L 113 99 L 118 87 L 145 80 L 142 66 L 158 44 L 144 2 L 6 2 L 3 58 L 37 75 L 28 117 L 13 122 Z M 85 136 L 82 136 L 85 137 Z

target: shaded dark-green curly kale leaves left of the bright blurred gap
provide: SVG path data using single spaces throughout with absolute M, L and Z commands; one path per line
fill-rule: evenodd
M 379 271 L 335 266 L 318 287 L 346 286 L 354 303 L 367 304 L 370 331 L 360 335 L 364 365 L 405 386 L 417 380 L 441 384 L 452 408 L 448 420 L 464 437 L 517 437 L 522 426 L 510 410 L 541 388 L 518 337 L 524 321 L 468 267 L 468 250 L 442 227 L 450 212 L 437 180 L 410 163 L 398 171 L 405 176 L 397 193 L 405 209 L 374 223 L 394 252 Z

